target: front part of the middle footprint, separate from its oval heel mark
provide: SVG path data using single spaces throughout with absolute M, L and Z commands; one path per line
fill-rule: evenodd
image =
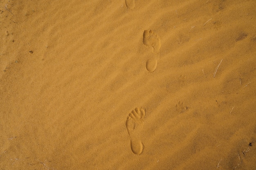
M 161 42 L 157 34 L 151 30 L 145 30 L 143 33 L 143 43 L 146 46 L 152 46 L 154 53 L 159 53 Z

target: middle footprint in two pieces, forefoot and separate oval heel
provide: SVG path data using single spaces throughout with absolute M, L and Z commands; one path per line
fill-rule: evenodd
M 153 53 L 158 54 L 161 46 L 160 39 L 157 34 L 151 30 L 145 30 L 143 33 L 143 44 L 146 46 L 153 47 Z M 156 57 L 151 57 L 146 62 L 146 69 L 148 72 L 153 72 L 157 68 L 157 59 Z

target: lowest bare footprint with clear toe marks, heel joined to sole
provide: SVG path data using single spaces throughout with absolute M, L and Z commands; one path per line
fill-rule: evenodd
M 141 130 L 144 124 L 144 116 L 145 110 L 143 108 L 135 108 L 126 120 L 126 128 L 131 140 L 131 149 L 136 155 L 140 155 L 144 148 L 140 139 Z

